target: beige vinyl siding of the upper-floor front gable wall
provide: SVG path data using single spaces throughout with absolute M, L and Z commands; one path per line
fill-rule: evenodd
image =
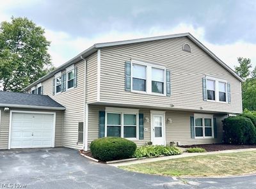
M 191 53 L 182 50 L 188 43 Z M 100 102 L 168 107 L 173 109 L 241 113 L 241 86 L 223 66 L 214 61 L 189 38 L 173 38 L 101 49 Z M 171 96 L 125 91 L 125 61 L 137 59 L 162 64 L 171 70 Z M 205 75 L 227 80 L 231 103 L 204 102 L 202 78 Z

